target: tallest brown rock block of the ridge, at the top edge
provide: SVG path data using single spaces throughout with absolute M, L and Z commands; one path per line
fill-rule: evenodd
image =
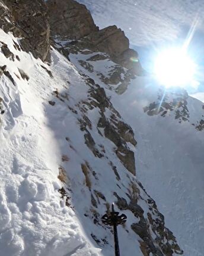
M 80 39 L 98 30 L 85 5 L 74 0 L 49 0 L 47 5 L 52 35 Z

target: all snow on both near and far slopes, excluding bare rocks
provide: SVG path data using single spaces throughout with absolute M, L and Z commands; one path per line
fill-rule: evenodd
M 71 55 L 76 68 L 52 49 L 53 62 L 49 66 L 34 59 L 31 54 L 15 49 L 13 40 L 18 43 L 18 39 L 0 30 L 0 41 L 7 43 L 10 51 L 20 58 L 20 61 L 17 58 L 12 61 L 0 52 L 0 65 L 7 65 L 15 81 L 14 86 L 5 75 L 0 78 L 0 96 L 5 110 L 0 115 L 1 254 L 113 255 L 110 230 L 100 226 L 100 221 L 97 225 L 93 224 L 90 209 L 93 214 L 96 212 L 88 201 L 91 190 L 86 183 L 90 182 L 98 191 L 104 191 L 106 201 L 111 202 L 113 192 L 125 195 L 135 177 L 124 171 L 113 152 L 113 143 L 98 134 L 95 124 L 99 115 L 97 108 L 88 110 L 88 118 L 94 124 L 91 135 L 97 146 L 104 145 L 106 155 L 117 166 L 122 182 L 113 183 L 115 177 L 113 171 L 110 172 L 110 161 L 93 157 L 93 152 L 88 151 L 84 144 L 84 133 L 79 126 L 82 113 L 76 105 L 88 97 L 89 88 L 81 76 L 85 73 L 103 86 L 114 107 L 133 127 L 138 141 L 136 175 L 156 200 L 167 227 L 174 232 L 184 249 L 184 255 L 203 255 L 204 142 L 203 133 L 191 125 L 202 117 L 202 103 L 191 97 L 187 99 L 190 123 L 180 124 L 170 113 L 165 118 L 160 115 L 149 117 L 143 107 L 158 98 L 160 89 L 151 77 L 137 77 L 125 93 L 118 95 L 97 76 L 97 71 L 109 75 L 107 70 L 114 65 L 111 61 L 98 61 L 94 64 L 94 72 L 88 73 L 78 60 L 90 56 Z M 52 71 L 53 78 L 42 66 Z M 28 74 L 28 82 L 21 78 L 18 68 Z M 56 97 L 56 92 L 63 95 L 63 101 Z M 168 95 L 170 98 L 175 96 L 173 92 Z M 50 105 L 48 101 L 54 101 L 55 105 Z M 109 111 L 105 114 L 106 117 L 110 115 Z M 131 149 L 135 151 L 133 146 Z M 62 161 L 63 155 L 69 161 Z M 86 180 L 81 171 L 81 164 L 87 163 L 90 164 L 89 171 L 95 171 L 94 176 L 88 175 L 90 180 Z M 69 200 L 74 210 L 66 206 L 66 198 L 60 198 L 58 189 L 65 184 L 58 179 L 59 168 L 67 170 L 66 191 L 73 196 Z M 120 190 L 119 184 L 122 185 Z M 148 196 L 142 189 L 140 193 L 138 204 L 146 216 L 149 211 L 146 204 Z M 98 199 L 98 204 L 100 214 L 104 214 L 106 205 L 103 199 Z M 136 217 L 129 211 L 125 213 L 126 226 L 119 229 L 120 241 L 126 241 L 121 243 L 121 254 L 142 256 L 139 237 L 126 231 L 131 230 L 130 225 Z M 109 243 L 101 246 L 102 249 L 97 248 L 91 233 Z

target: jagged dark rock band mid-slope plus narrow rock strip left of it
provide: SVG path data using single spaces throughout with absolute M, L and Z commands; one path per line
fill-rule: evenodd
M 100 88 L 100 86 L 96 85 L 89 78 L 87 79 L 87 84 L 90 86 L 90 98 L 87 102 L 83 102 L 83 104 L 87 105 L 90 109 L 98 108 L 100 110 L 100 118 L 97 123 L 98 133 L 114 143 L 114 153 L 117 158 L 119 158 L 119 161 L 121 161 L 130 173 L 135 175 L 135 154 L 128 146 L 128 143 L 133 146 L 136 146 L 137 143 L 132 128 L 120 119 L 120 114 L 114 109 L 103 88 Z M 109 118 L 105 115 L 106 109 L 111 113 Z M 103 151 L 100 152 L 98 150 L 94 139 L 90 132 L 88 132 L 87 127 L 91 128 L 90 121 L 88 120 L 87 115 L 84 113 L 80 124 L 81 130 L 85 132 L 85 144 L 93 152 L 95 157 L 104 157 Z

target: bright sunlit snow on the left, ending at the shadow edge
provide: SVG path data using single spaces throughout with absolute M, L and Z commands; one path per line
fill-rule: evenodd
M 79 85 L 81 76 L 53 51 L 52 79 L 44 70 L 49 67 L 20 51 L 12 35 L 1 30 L 0 41 L 14 54 L 13 61 L 1 52 L 0 65 L 7 65 L 6 74 L 11 74 L 15 83 L 2 74 L 0 254 L 98 255 L 87 242 L 74 210 L 60 199 L 60 141 L 49 127 L 53 107 L 48 101 L 53 90 L 67 88 L 68 79 Z M 30 77 L 28 81 L 18 68 Z

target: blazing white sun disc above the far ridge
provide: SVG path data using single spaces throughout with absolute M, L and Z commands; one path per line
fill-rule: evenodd
M 162 85 L 185 87 L 193 82 L 196 65 L 182 48 L 160 52 L 154 63 L 154 74 Z

